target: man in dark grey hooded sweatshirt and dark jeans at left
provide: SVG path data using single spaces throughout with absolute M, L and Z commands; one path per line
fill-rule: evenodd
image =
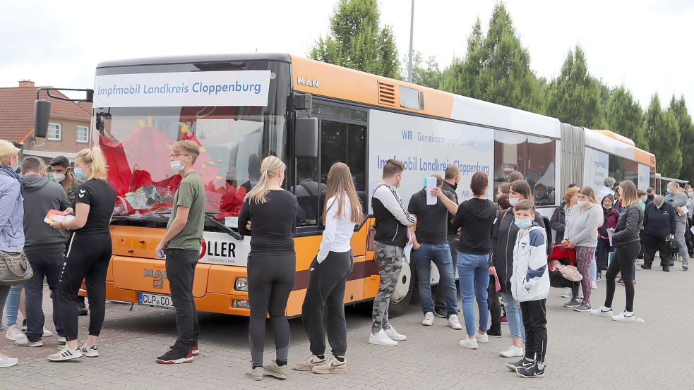
M 25 282 L 27 331 L 15 341 L 18 346 L 40 347 L 44 335 L 43 279 L 48 281 L 51 299 L 55 302 L 60 272 L 63 267 L 65 236 L 44 222 L 49 210 L 65 210 L 70 206 L 61 185 L 48 181 L 43 163 L 36 157 L 22 161 L 24 187 L 24 252 L 34 275 Z M 60 313 L 53 305 L 53 323 L 64 343 Z

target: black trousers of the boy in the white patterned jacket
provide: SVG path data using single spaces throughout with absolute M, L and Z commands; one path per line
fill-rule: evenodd
M 544 363 L 547 353 L 547 300 L 529 300 L 520 303 L 525 327 L 525 357 Z

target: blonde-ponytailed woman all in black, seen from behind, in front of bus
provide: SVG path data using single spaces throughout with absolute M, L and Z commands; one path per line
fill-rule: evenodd
M 261 164 L 261 179 L 246 194 L 239 213 L 239 233 L 251 236 L 248 284 L 252 365 L 246 375 L 255 380 L 263 379 L 263 374 L 287 378 L 289 322 L 285 309 L 297 276 L 292 233 L 298 203 L 294 194 L 282 189 L 286 168 L 277 157 L 265 157 Z M 265 317 L 268 313 L 277 360 L 272 365 L 263 365 Z

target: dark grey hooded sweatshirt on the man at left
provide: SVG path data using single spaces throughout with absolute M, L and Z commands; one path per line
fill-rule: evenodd
M 64 234 L 43 220 L 49 210 L 70 207 L 63 186 L 39 175 L 22 178 L 24 186 L 24 250 L 65 248 Z

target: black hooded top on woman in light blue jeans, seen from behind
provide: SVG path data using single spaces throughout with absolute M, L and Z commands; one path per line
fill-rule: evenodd
M 473 255 L 491 253 L 491 232 L 496 205 L 491 200 L 472 198 L 462 202 L 453 219 L 453 228 L 460 227 L 458 252 Z

